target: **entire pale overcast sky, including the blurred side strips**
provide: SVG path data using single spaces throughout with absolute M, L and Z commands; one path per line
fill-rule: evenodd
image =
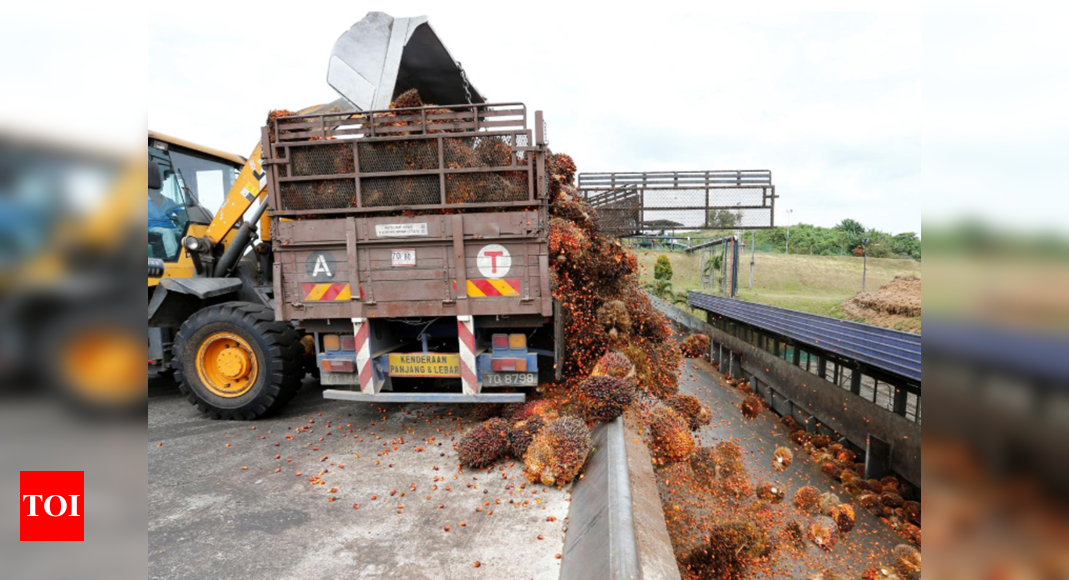
M 385 9 L 429 15 L 471 82 L 543 110 L 580 171 L 768 169 L 777 224 L 1069 230 L 1069 35 L 1038 4 L 105 4 L 5 11 L 0 83 L 20 90 L 0 91 L 0 130 L 137 151 L 151 127 L 248 155 L 269 110 L 337 98 L 331 46 Z

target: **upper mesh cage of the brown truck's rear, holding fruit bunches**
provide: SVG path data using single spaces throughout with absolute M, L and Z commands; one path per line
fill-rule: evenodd
M 538 135 L 522 104 L 281 116 L 263 130 L 276 216 L 544 203 Z

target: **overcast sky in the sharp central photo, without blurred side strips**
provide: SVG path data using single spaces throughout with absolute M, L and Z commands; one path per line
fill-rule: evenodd
M 269 109 L 337 97 L 330 48 L 368 6 L 151 14 L 149 126 L 247 155 Z M 579 171 L 770 169 L 777 223 L 919 232 L 915 16 L 445 6 L 388 12 L 430 16 L 490 100 L 545 111 Z

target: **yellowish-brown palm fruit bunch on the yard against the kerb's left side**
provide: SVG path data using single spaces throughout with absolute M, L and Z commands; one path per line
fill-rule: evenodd
M 542 427 L 527 448 L 527 479 L 544 485 L 564 485 L 583 469 L 590 454 L 590 430 L 582 420 L 561 417 Z

